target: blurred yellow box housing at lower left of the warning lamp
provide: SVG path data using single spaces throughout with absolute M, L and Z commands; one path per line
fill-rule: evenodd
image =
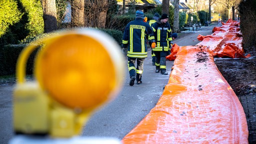
M 13 127 L 21 133 L 48 133 L 49 99 L 36 82 L 17 84 L 13 91 Z

